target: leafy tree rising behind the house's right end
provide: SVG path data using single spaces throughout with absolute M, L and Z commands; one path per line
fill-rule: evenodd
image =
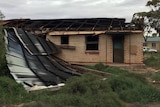
M 148 12 L 138 12 L 133 15 L 133 23 L 144 23 L 144 29 L 149 33 L 154 28 L 160 34 L 160 0 L 149 0 L 146 6 L 150 8 Z

